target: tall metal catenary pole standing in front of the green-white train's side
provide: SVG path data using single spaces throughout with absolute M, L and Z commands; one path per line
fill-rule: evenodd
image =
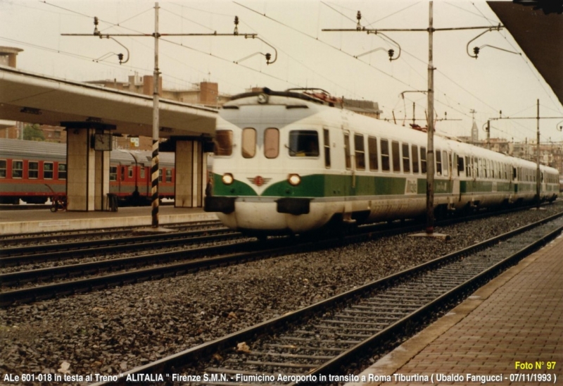
M 434 63 L 432 56 L 432 39 L 434 27 L 432 27 L 432 4 L 429 4 L 429 27 L 428 27 L 428 152 L 426 155 L 426 234 L 434 233 Z

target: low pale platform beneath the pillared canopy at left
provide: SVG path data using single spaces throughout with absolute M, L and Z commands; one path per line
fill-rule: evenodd
M 172 205 L 158 207 L 158 223 L 186 223 L 217 220 L 215 213 L 203 208 L 175 208 Z M 58 230 L 101 229 L 127 226 L 151 226 L 151 206 L 119 208 L 118 211 L 57 211 L 49 208 L 20 211 L 0 211 L 0 234 L 53 232 Z

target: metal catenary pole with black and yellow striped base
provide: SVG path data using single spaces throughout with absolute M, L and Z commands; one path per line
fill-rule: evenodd
M 158 2 L 154 4 L 153 158 L 151 162 L 152 226 L 158 228 Z

